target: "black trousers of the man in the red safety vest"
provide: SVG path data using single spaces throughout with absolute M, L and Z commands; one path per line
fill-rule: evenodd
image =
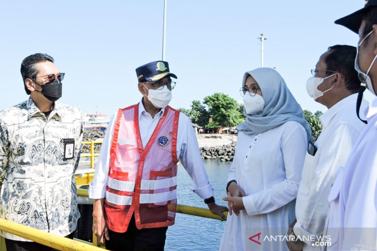
M 106 249 L 112 251 L 163 251 L 167 227 L 137 229 L 132 215 L 127 231 L 117 233 L 109 230 L 110 240 Z

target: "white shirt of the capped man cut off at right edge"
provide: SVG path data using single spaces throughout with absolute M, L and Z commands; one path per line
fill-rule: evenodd
M 366 109 L 360 134 L 331 188 L 328 250 L 376 250 L 377 99 Z

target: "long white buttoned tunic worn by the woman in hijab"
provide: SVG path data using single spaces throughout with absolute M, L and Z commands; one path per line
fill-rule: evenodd
M 285 236 L 295 218 L 294 199 L 307 146 L 307 132 L 293 121 L 257 135 L 238 132 L 228 181 L 236 180 L 246 193 L 245 210 L 228 216 L 220 250 L 288 250 L 285 240 L 263 240 Z M 261 245 L 249 240 L 259 232 Z

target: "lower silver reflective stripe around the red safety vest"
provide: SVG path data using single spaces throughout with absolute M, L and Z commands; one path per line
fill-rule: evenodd
M 177 190 L 163 193 L 141 193 L 140 204 L 166 202 L 177 198 Z M 131 205 L 132 196 L 116 195 L 106 191 L 106 200 L 116 205 Z

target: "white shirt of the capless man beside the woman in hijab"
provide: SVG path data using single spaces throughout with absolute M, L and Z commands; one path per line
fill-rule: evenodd
M 320 116 L 322 132 L 315 143 L 318 150 L 314 156 L 306 154 L 297 193 L 297 223 L 294 226 L 296 236 L 301 236 L 305 242 L 304 251 L 320 250 L 315 242 L 323 233 L 329 210 L 326 198 L 334 183 L 335 173 L 339 166 L 345 165 L 365 127 L 356 116 L 356 100 L 357 94 L 352 94 Z M 363 100 L 362 107 L 367 106 L 368 102 Z M 313 237 L 310 239 L 309 236 Z

